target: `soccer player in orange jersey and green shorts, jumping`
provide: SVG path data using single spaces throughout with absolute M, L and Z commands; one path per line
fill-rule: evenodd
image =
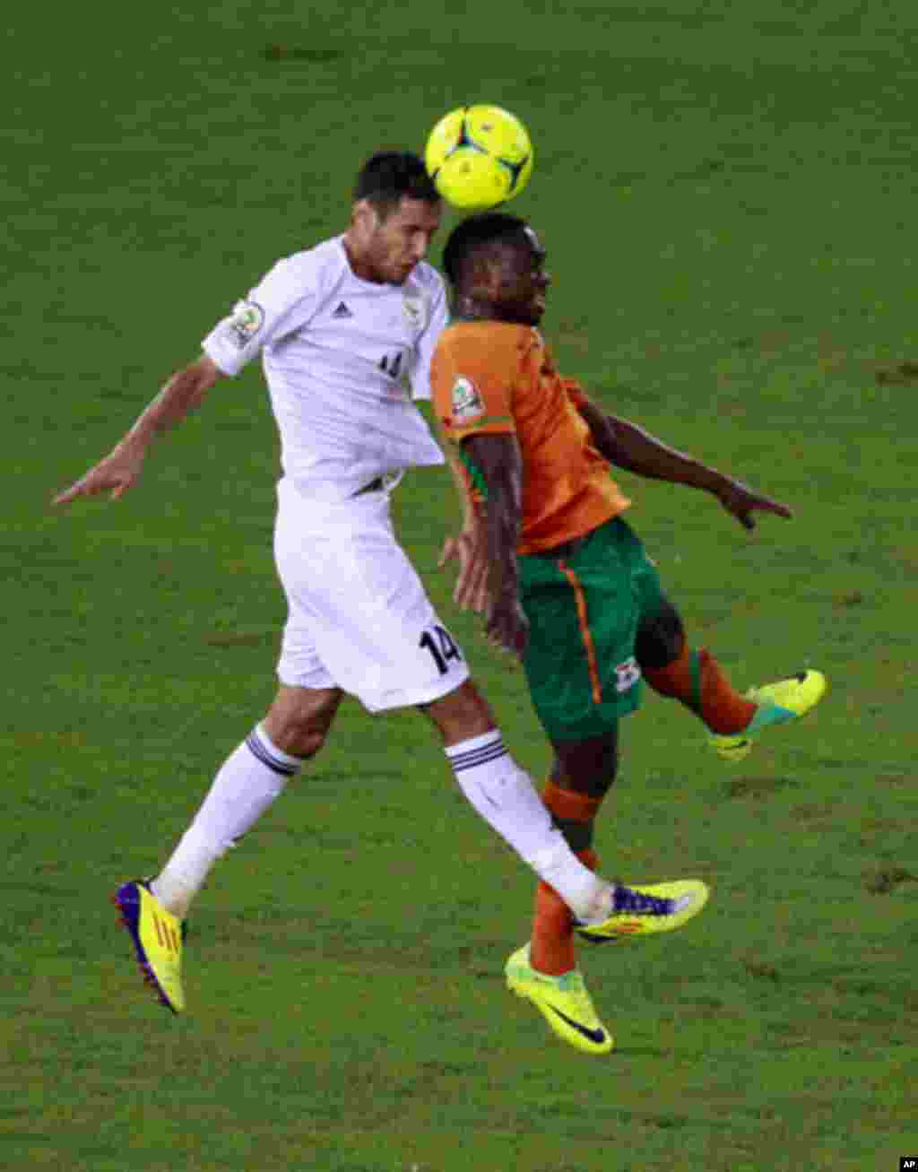
M 755 512 L 787 518 L 790 510 L 606 416 L 558 374 L 536 328 L 550 285 L 545 251 L 524 220 L 502 212 L 464 220 L 443 263 L 454 318 L 430 382 L 467 505 L 465 531 L 447 543 L 443 560 L 458 557 L 456 597 L 477 595 L 491 641 L 523 661 L 555 750 L 543 800 L 596 867 L 593 820 L 616 776 L 619 718 L 639 707 L 641 679 L 694 711 L 727 759 L 746 756 L 762 729 L 802 716 L 825 691 L 823 675 L 807 670 L 740 695 L 713 655 L 689 646 L 624 520 L 631 502 L 612 465 L 706 490 L 747 529 Z M 665 898 L 674 886 L 640 890 Z M 508 984 L 566 1042 L 605 1052 L 578 1029 L 594 1010 L 574 932 L 597 939 L 539 883 L 531 940 L 508 960 Z

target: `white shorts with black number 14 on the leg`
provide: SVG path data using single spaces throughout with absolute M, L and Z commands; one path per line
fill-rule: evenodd
M 429 703 L 468 679 L 395 540 L 388 492 L 329 503 L 281 479 L 274 559 L 288 607 L 281 683 L 341 688 L 378 713 Z

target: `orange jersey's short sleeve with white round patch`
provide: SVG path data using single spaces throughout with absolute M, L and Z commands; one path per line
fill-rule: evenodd
M 512 327 L 497 333 L 489 323 L 460 326 L 441 336 L 430 381 L 434 410 L 450 440 L 516 431 L 514 394 L 521 359 Z

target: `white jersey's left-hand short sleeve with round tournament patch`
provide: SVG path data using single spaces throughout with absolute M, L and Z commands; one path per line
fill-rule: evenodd
M 268 343 L 305 326 L 319 304 L 320 267 L 308 254 L 279 260 L 229 318 L 219 321 L 202 346 L 227 375 Z

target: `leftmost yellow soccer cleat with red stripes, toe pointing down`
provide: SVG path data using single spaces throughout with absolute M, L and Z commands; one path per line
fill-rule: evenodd
M 182 989 L 182 921 L 168 912 L 143 879 L 118 887 L 111 902 L 130 933 L 143 980 L 161 1004 L 181 1014 L 185 1008 Z

